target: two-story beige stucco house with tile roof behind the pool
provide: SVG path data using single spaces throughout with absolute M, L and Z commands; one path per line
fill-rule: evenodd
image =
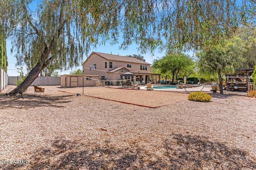
M 84 74 L 98 75 L 100 80 L 106 80 L 106 85 L 116 85 L 120 79 L 132 79 L 140 82 L 156 82 L 160 80 L 160 74 L 150 73 L 150 63 L 134 57 L 92 52 L 86 61 L 84 61 L 83 68 Z M 124 72 L 132 72 L 136 76 L 120 76 Z M 90 78 L 86 78 L 86 80 L 96 81 L 90 80 Z

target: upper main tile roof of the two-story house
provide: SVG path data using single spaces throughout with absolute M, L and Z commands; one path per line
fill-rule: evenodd
M 98 54 L 101 57 L 103 57 L 107 60 L 110 60 L 110 61 L 122 61 L 122 62 L 126 62 L 126 63 L 139 63 L 139 64 L 147 64 L 147 65 L 149 64 L 150 65 L 150 63 L 146 63 L 145 61 L 141 61 L 134 57 L 106 54 L 106 53 L 99 53 L 99 52 L 92 52 L 92 53 Z

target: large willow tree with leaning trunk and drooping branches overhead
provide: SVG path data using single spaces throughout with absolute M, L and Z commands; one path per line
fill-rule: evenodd
M 49 64 L 77 66 L 97 44 L 136 43 L 139 51 L 199 50 L 218 44 L 254 19 L 255 2 L 240 0 L 0 0 L 0 20 L 17 64 L 30 72 L 11 93 L 22 93 Z M 36 1 L 38 2 L 38 1 Z

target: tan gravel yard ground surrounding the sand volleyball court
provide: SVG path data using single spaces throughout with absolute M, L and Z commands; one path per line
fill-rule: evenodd
M 45 96 L 31 87 L 18 100 L 0 95 L 0 161 L 11 161 L 0 168 L 256 169 L 255 98 L 149 108 L 45 88 Z

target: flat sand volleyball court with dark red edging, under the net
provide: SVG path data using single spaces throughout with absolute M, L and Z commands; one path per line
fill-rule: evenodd
M 63 88 L 60 91 L 73 94 L 80 92 L 82 94 L 82 88 Z M 184 93 L 104 87 L 84 88 L 84 95 L 153 108 L 186 100 L 188 96 Z

